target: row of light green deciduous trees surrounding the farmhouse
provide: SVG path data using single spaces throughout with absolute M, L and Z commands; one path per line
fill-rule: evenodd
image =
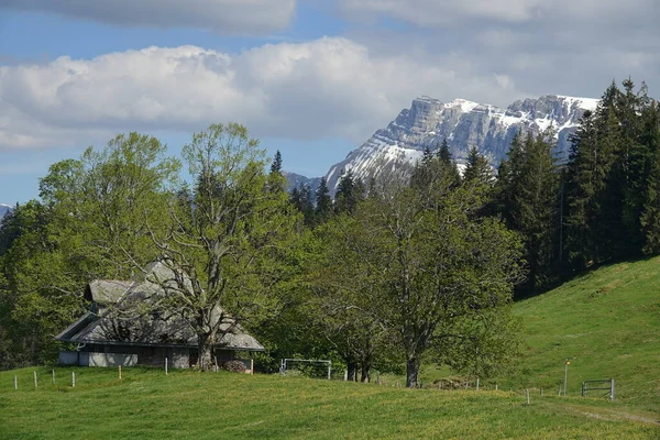
M 364 380 L 405 364 L 409 386 L 425 356 L 490 374 L 515 351 L 505 330 L 519 242 L 480 215 L 479 186 L 459 185 L 451 161 L 429 154 L 413 185 L 369 191 L 349 175 L 334 201 L 318 191 L 312 221 L 284 189 L 282 157 L 266 162 L 243 127 L 218 124 L 180 158 L 131 133 L 54 164 L 41 201 L 0 228 L 2 367 L 53 360 L 87 282 L 153 261 L 173 273 L 157 307 L 196 332 L 202 370 L 228 317 L 274 356 L 331 356 Z

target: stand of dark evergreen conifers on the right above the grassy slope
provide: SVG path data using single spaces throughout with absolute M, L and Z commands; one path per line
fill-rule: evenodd
M 524 295 L 600 264 L 660 252 L 660 114 L 642 85 L 612 84 L 570 138 L 516 136 L 493 186 L 492 211 L 520 233 Z

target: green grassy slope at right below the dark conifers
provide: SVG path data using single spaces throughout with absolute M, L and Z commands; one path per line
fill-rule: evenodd
M 515 312 L 529 346 L 507 385 L 557 393 L 569 359 L 569 395 L 580 395 L 582 381 L 614 378 L 617 400 L 660 408 L 660 258 L 602 267 Z

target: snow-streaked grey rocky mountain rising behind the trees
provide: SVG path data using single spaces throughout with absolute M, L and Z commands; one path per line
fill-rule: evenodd
M 536 134 L 552 129 L 558 141 L 557 153 L 565 155 L 569 134 L 584 111 L 594 110 L 597 102 L 597 99 L 546 95 L 503 109 L 464 99 L 446 103 L 420 97 L 387 128 L 376 131 L 345 160 L 331 166 L 326 176 L 328 187 L 333 194 L 341 176 L 349 170 L 363 182 L 393 174 L 408 175 L 424 150 L 435 150 L 444 139 L 459 164 L 474 145 L 497 166 L 518 131 Z

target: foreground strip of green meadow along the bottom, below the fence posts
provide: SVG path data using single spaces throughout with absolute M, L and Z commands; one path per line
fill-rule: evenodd
M 70 369 L 0 373 L 0 437 L 653 439 L 617 404 L 503 392 L 439 392 L 238 373 Z M 13 375 L 19 376 L 18 391 Z

